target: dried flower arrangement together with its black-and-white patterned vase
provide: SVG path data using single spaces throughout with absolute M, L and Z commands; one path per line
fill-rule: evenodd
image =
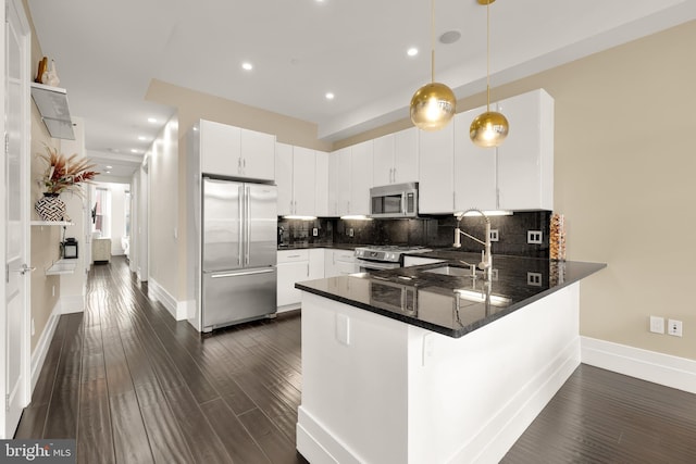
M 82 183 L 89 181 L 99 174 L 92 171 L 96 164 L 77 153 L 66 156 L 49 146 L 46 146 L 46 153 L 39 153 L 37 158 L 46 164 L 39 179 L 46 191 L 44 198 L 35 204 L 36 212 L 42 221 L 70 221 L 65 217 L 65 203 L 59 196 L 72 192 L 82 197 Z

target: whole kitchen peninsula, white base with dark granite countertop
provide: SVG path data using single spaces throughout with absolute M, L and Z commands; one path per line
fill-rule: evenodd
M 422 256 L 423 254 L 420 254 Z M 605 264 L 495 256 L 299 283 L 310 462 L 498 462 L 580 364 L 580 280 Z

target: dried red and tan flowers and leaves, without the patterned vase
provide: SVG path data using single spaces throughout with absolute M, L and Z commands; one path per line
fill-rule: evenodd
M 79 158 L 77 153 L 66 156 L 49 146 L 46 146 L 46 153 L 39 153 L 38 158 L 47 164 L 40 179 L 47 193 L 72 191 L 82 195 L 80 184 L 92 180 L 99 174 L 92 171 L 97 165 L 89 159 Z

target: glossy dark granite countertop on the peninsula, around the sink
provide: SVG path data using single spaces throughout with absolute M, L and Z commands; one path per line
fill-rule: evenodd
M 444 263 L 297 283 L 296 288 L 459 338 L 606 267 L 602 263 L 493 256 L 490 283 L 461 263 L 481 254 L 440 249 L 414 254 Z M 449 264 L 464 276 L 428 271 Z M 486 301 L 487 300 L 487 301 Z

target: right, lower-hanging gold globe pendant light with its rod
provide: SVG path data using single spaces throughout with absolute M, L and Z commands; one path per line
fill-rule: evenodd
M 478 147 L 498 147 L 508 136 L 508 120 L 497 111 L 490 111 L 490 3 L 496 0 L 478 0 L 486 5 L 486 112 L 471 123 L 469 136 Z

